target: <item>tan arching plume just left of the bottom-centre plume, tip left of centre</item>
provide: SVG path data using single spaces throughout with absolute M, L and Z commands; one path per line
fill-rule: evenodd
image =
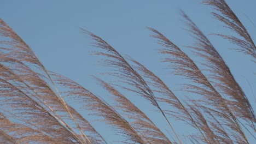
M 127 143 L 146 143 L 142 137 L 137 133 L 129 122 L 126 121 L 112 106 L 107 104 L 106 101 L 98 98 L 96 95 L 80 86 L 77 82 L 68 79 L 67 77 L 53 74 L 55 81 L 58 85 L 68 88 L 69 90 L 64 92 L 65 97 L 72 97 L 78 101 L 82 101 L 83 108 L 92 111 L 92 115 L 102 117 L 102 121 L 112 125 L 118 132 L 127 137 Z M 125 143 L 124 141 L 124 143 Z

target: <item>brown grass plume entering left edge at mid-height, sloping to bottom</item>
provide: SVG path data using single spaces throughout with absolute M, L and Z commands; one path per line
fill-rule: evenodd
M 78 141 L 76 137 L 64 128 L 55 117 L 26 93 L 3 79 L 0 79 L 0 88 L 0 101 L 2 106 L 5 107 L 5 110 L 13 113 L 16 118 L 24 119 L 24 124 L 28 124 L 28 127 L 24 129 L 24 133 L 20 133 L 21 135 L 24 134 L 26 136 L 27 141 L 32 141 L 33 139 L 34 141 L 37 141 L 36 137 L 38 136 L 36 133 L 30 132 L 30 127 L 33 127 L 33 125 L 36 125 L 35 130 L 42 131 L 42 133 L 48 135 L 52 139 L 60 139 L 63 143 L 73 143 L 74 141 Z M 6 130 L 12 129 L 14 129 L 13 126 L 8 127 Z M 25 133 L 26 130 L 27 132 Z M 62 131 L 62 133 L 59 133 L 59 131 Z M 33 135 L 36 135 L 36 137 Z M 38 139 L 38 141 L 40 141 L 40 139 Z

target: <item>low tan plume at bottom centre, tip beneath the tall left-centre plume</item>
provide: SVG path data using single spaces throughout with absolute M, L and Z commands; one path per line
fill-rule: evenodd
M 109 93 L 115 96 L 114 99 L 118 102 L 118 109 L 123 111 L 129 119 L 133 120 L 131 125 L 135 127 L 136 130 L 139 131 L 139 134 L 142 134 L 147 141 L 150 143 L 172 143 L 138 107 L 132 104 L 131 101 L 117 91 L 117 89 L 97 77 L 95 77 L 95 79 L 100 82 L 100 85 L 107 89 Z

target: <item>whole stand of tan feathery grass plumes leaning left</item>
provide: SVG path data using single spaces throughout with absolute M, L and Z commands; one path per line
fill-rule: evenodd
M 237 34 L 216 35 L 239 46 L 238 50 L 255 62 L 254 41 L 229 5 L 224 0 L 202 3 L 216 10 L 212 15 Z M 0 143 L 109 143 L 101 133 L 111 130 L 119 143 L 256 141 L 256 117 L 247 95 L 211 41 L 188 15 L 181 14 L 195 41 L 187 48 L 203 59 L 200 65 L 164 34 L 148 29 L 159 44 L 162 62 L 173 70 L 171 74 L 189 81 L 182 91 L 193 97 L 186 100 L 143 64 L 122 56 L 107 41 L 81 29 L 92 38 L 92 53 L 112 69 L 104 75 L 117 80 L 106 82 L 92 76 L 98 89 L 105 89 L 114 103 L 109 103 L 106 95 L 100 97 L 68 77 L 47 70 L 31 47 L 0 19 Z M 168 125 L 167 132 L 131 97 L 152 104 L 162 123 Z M 90 117 L 109 125 L 109 129 L 97 131 L 87 120 Z M 193 134 L 182 138 L 181 131 L 186 129 L 174 127 L 175 122 L 187 124 Z

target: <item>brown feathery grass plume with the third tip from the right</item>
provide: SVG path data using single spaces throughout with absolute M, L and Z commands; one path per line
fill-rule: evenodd
M 171 63 L 172 68 L 176 70 L 176 73 L 174 74 L 183 75 L 194 81 L 195 85 L 185 85 L 186 87 L 184 91 L 203 95 L 203 100 L 200 100 L 203 102 L 202 105 L 214 107 L 214 110 L 216 111 L 214 113 L 216 116 L 225 119 L 223 121 L 225 122 L 225 125 L 228 125 L 228 128 L 235 131 L 236 134 L 232 134 L 232 137 L 236 139 L 240 136 L 240 138 L 237 138 L 238 140 L 243 139 L 244 141 L 242 141 L 242 143 L 248 143 L 248 140 L 237 122 L 236 117 L 225 104 L 226 100 L 212 86 L 206 76 L 202 74 L 202 71 L 197 67 L 193 60 L 160 32 L 152 28 L 150 28 L 150 30 L 155 33 L 153 37 L 159 40 L 159 44 L 166 47 L 165 49 L 160 49 L 160 53 L 170 56 L 166 57 L 164 62 Z

